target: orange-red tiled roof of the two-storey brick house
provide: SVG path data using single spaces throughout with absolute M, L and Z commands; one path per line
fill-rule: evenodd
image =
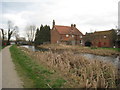
M 74 35 L 81 35 L 82 33 L 77 29 L 77 28 L 72 28 L 70 26 L 60 26 L 60 25 L 55 25 L 55 29 L 60 33 L 60 34 L 74 34 Z M 83 34 L 82 34 L 83 35 Z

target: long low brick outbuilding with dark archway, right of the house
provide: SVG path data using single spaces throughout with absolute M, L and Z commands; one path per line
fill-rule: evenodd
M 83 37 L 85 46 L 95 47 L 113 47 L 116 41 L 116 31 L 114 29 L 107 31 L 95 31 L 86 33 Z

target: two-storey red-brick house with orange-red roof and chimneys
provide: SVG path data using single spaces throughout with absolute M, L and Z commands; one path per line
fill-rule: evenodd
M 76 28 L 76 25 L 61 26 L 55 25 L 53 20 L 53 27 L 51 30 L 51 43 L 64 43 L 70 45 L 82 45 L 83 34 Z

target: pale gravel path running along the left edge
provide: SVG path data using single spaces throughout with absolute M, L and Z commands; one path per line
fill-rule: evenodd
M 22 88 L 22 81 L 15 70 L 9 48 L 7 46 L 2 50 L 2 88 Z

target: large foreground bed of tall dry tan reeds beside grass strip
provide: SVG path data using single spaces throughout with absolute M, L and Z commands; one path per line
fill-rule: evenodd
M 28 55 L 36 58 L 38 63 L 43 62 L 54 70 L 59 70 L 70 82 L 71 87 L 79 88 L 115 88 L 117 68 L 112 63 L 99 60 L 87 60 L 75 55 L 73 51 L 61 53 L 31 52 L 23 49 Z

